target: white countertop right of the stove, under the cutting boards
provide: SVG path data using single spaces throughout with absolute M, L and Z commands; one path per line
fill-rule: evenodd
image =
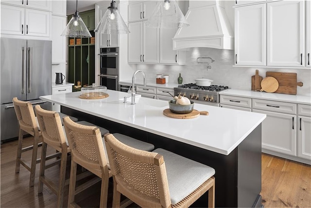
M 259 91 L 235 89 L 224 90 L 219 94 L 311 105 L 311 97 L 302 95 L 287 95 L 280 93 L 265 93 Z

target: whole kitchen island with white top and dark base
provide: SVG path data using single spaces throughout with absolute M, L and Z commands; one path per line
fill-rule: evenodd
M 80 92 L 40 98 L 62 106 L 62 112 L 108 129 L 153 143 L 215 169 L 216 207 L 260 207 L 261 122 L 266 115 L 195 104 L 208 111 L 192 119 L 163 115 L 167 101 L 110 91 L 104 99 L 80 99 Z M 164 158 L 165 159 L 165 158 Z M 203 195 L 195 207 L 207 206 Z

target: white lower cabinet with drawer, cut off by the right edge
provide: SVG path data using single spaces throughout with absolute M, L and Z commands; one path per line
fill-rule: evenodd
M 298 104 L 298 157 L 311 160 L 311 105 Z

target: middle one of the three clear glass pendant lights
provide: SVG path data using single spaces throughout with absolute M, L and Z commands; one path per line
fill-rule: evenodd
M 116 1 L 111 1 L 110 6 L 108 7 L 101 21 L 98 23 L 94 32 L 99 32 L 103 34 L 130 33 L 118 11 L 118 8 L 116 7 Z

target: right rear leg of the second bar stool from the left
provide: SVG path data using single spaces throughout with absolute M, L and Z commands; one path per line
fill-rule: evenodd
M 67 147 L 66 147 L 67 148 Z M 63 207 L 64 199 L 64 187 L 65 187 L 65 177 L 66 177 L 66 165 L 67 165 L 67 151 L 62 150 L 62 157 L 60 162 L 60 172 L 59 172 L 59 183 L 58 183 L 58 199 L 57 207 Z

